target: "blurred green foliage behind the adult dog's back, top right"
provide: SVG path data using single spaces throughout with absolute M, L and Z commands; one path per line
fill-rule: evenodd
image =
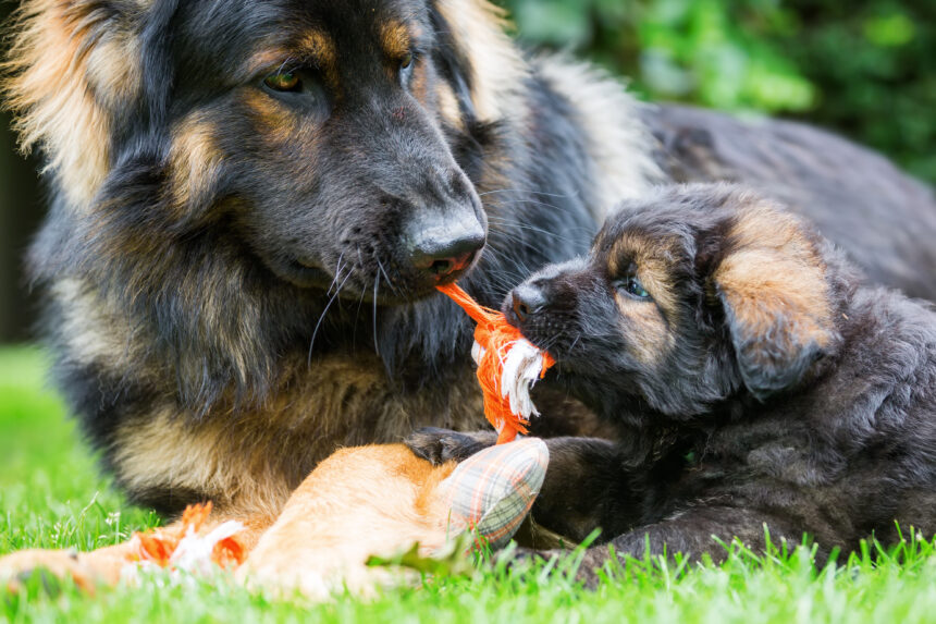
M 654 100 L 816 123 L 936 182 L 934 0 L 501 0 Z

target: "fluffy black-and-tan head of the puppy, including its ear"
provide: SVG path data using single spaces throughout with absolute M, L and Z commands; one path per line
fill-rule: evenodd
M 586 259 L 517 286 L 508 319 L 599 411 L 675 418 L 795 386 L 837 334 L 816 240 L 792 216 L 727 186 L 621 208 Z

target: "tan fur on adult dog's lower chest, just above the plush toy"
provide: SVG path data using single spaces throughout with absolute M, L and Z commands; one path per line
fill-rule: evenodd
M 403 402 L 375 355 L 335 356 L 309 365 L 282 363 L 281 390 L 256 412 L 209 414 L 201 424 L 177 407 L 150 406 L 116 432 L 114 470 L 128 489 L 205 492 L 222 510 L 279 512 L 291 489 L 337 445 L 399 440 L 438 423 L 431 393 Z M 446 426 L 480 428 L 481 395 L 473 377 L 448 389 Z

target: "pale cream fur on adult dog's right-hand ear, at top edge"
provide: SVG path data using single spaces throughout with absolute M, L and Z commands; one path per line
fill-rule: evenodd
M 439 11 L 457 45 L 471 62 L 471 99 L 478 119 L 496 121 L 520 115 L 516 97 L 527 74 L 517 48 L 504 28 L 504 11 L 488 0 L 440 0 Z

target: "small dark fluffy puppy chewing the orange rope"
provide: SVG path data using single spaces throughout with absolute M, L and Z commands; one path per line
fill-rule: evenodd
M 543 269 L 504 311 L 619 443 L 549 440 L 538 522 L 618 554 L 715 538 L 853 549 L 936 531 L 936 310 L 866 285 L 827 240 L 727 185 L 623 206 L 588 258 Z M 440 460 L 485 442 L 410 439 Z M 648 541 L 649 540 L 649 541 Z M 587 568 L 608 556 L 588 552 Z

